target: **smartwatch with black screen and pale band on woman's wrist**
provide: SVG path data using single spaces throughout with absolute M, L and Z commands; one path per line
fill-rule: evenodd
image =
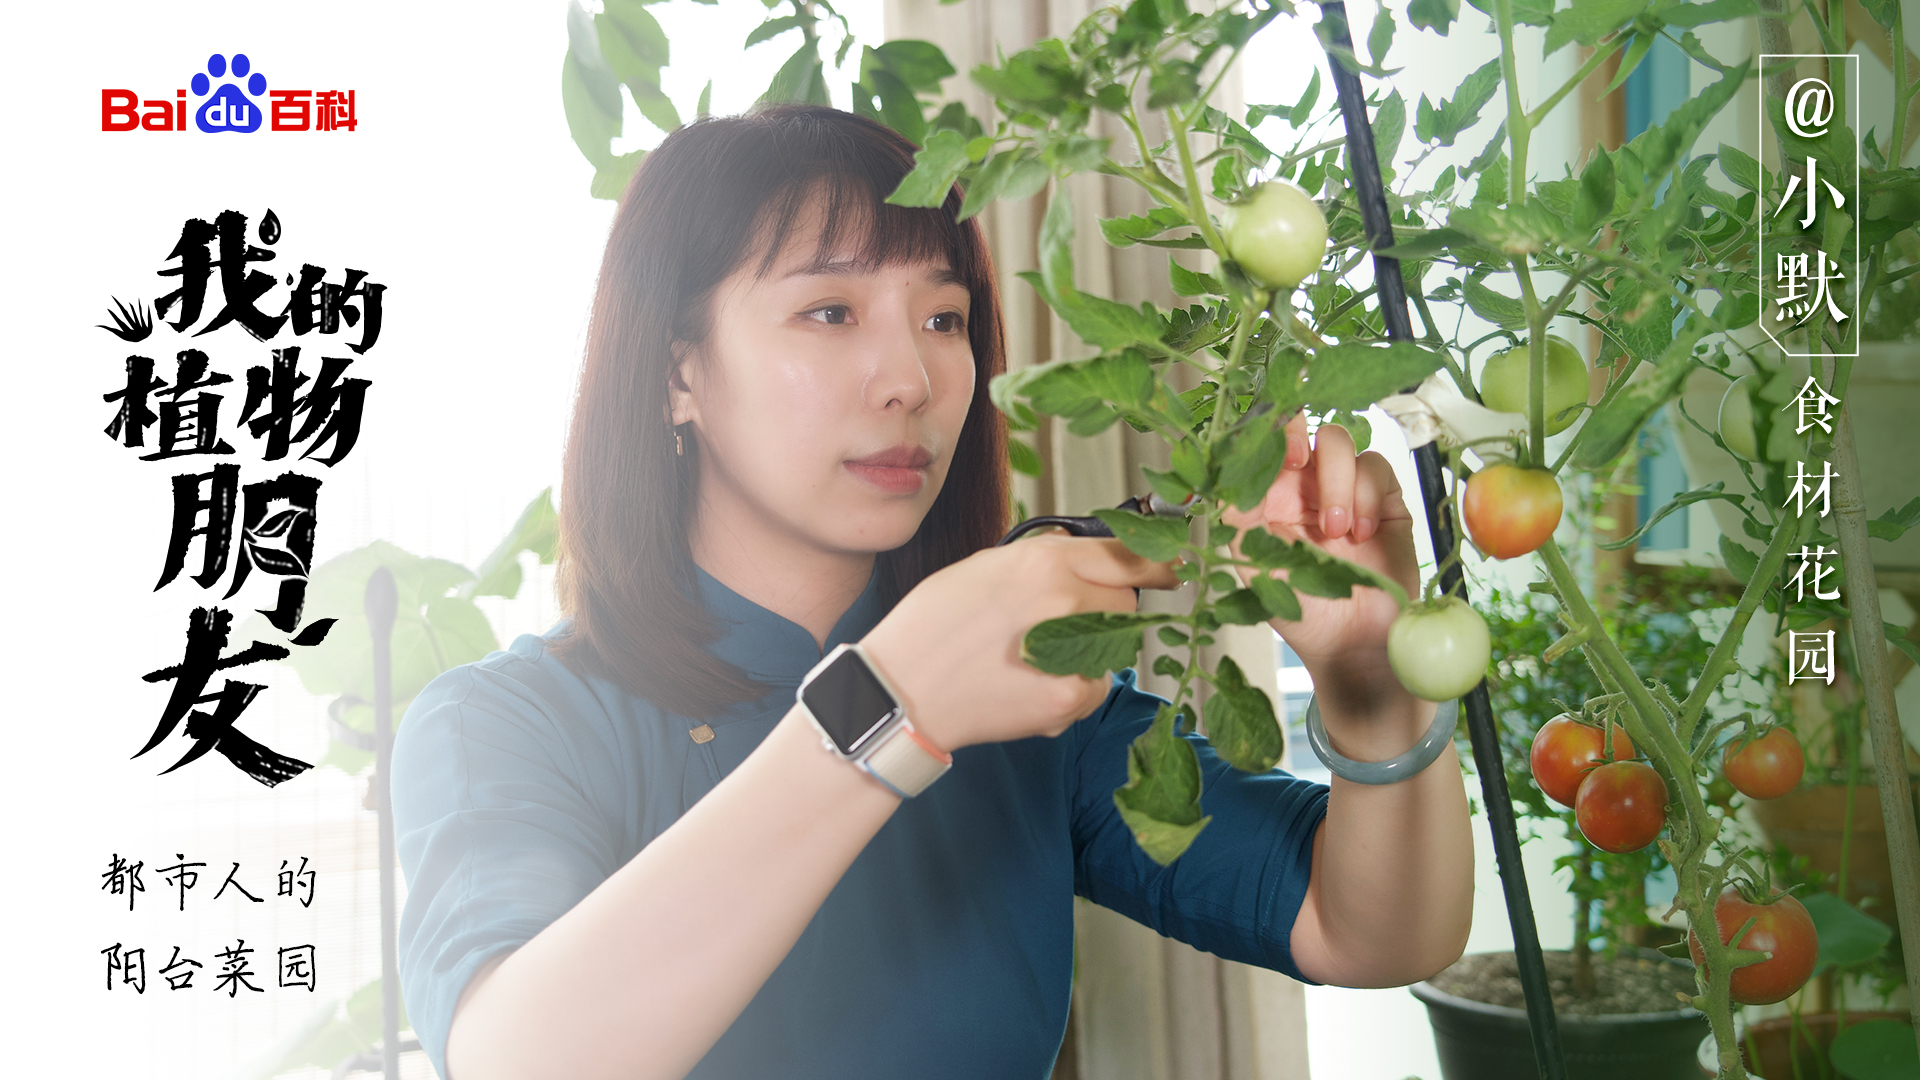
M 820 742 L 910 799 L 952 769 L 952 755 L 914 730 L 906 707 L 856 642 L 835 646 L 795 694 Z

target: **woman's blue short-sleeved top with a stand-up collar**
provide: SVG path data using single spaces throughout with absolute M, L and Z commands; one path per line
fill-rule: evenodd
M 447 671 L 409 705 L 394 746 L 399 974 L 442 1076 L 474 970 L 540 934 L 712 790 L 824 655 L 804 628 L 705 571 L 699 588 L 724 626 L 708 648 L 772 686 L 708 719 L 708 742 L 689 736 L 695 721 L 553 659 L 547 640 L 564 623 Z M 883 613 L 876 577 L 826 648 L 860 640 Z M 1158 867 L 1114 809 L 1114 788 L 1160 703 L 1125 671 L 1060 738 L 958 749 L 952 771 L 881 826 L 689 1076 L 1041 1080 L 1066 1030 L 1075 894 L 1302 978 L 1288 936 L 1327 788 L 1238 773 L 1194 740 L 1213 821 Z

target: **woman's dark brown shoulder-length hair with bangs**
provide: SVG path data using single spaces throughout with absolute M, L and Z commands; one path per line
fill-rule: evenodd
M 956 223 L 960 190 L 933 208 L 885 202 L 914 167 L 899 133 L 831 108 L 770 106 L 685 125 L 651 150 L 614 215 L 588 325 L 561 486 L 557 590 L 572 625 L 553 653 L 655 705 L 705 719 L 766 692 L 705 644 L 687 515 L 699 446 L 674 454 L 666 380 L 674 342 L 710 332 L 714 288 L 762 252 L 756 277 L 814 196 L 820 248 L 864 236 L 879 267 L 948 259 L 972 292 L 973 402 L 947 482 L 912 540 L 879 555 L 891 607 L 933 571 L 998 540 L 1008 519 L 1006 427 L 987 382 L 1006 365 L 1000 300 L 979 219 Z

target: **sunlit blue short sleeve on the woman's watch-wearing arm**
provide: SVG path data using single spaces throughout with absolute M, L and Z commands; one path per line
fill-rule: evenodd
M 394 742 L 394 834 L 407 880 L 407 1019 L 447 1076 L 453 1007 L 488 959 L 522 945 L 616 871 L 614 842 L 526 661 L 457 667 L 407 707 Z

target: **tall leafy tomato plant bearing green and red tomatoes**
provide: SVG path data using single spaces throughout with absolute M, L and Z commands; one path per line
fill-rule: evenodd
M 1192 609 L 1050 621 L 1044 632 L 1035 628 L 1027 640 L 1033 663 L 1077 675 L 1135 661 L 1148 628 L 1175 651 L 1187 650 L 1156 657 L 1154 671 L 1173 682 L 1173 705 L 1137 742 L 1133 763 L 1139 769 L 1129 771 L 1127 786 L 1116 792 L 1121 815 L 1154 859 L 1171 861 L 1206 824 L 1198 786 L 1190 782 L 1190 748 L 1169 738 L 1175 728 L 1185 730 L 1181 717 L 1196 713 L 1183 711 L 1196 684 L 1215 690 L 1208 730 L 1235 734 L 1215 746 L 1279 742 L 1271 701 L 1246 686 L 1238 669 L 1223 663 L 1210 671 L 1202 661 L 1200 650 L 1215 644 L 1213 632 L 1229 623 L 1296 621 L 1296 592 L 1340 600 L 1365 586 L 1404 601 L 1394 582 L 1327 548 L 1225 525 L 1225 507 L 1250 509 L 1279 475 L 1284 417 L 1302 409 L 1319 419 L 1350 417 L 1392 402 L 1386 411 L 1407 434 L 1407 444 L 1421 448 L 1427 477 L 1436 473 L 1434 455 L 1444 457 L 1446 467 L 1438 473 L 1446 477 L 1465 477 L 1469 454 L 1488 463 L 1465 480 L 1465 488 L 1453 484 L 1444 498 L 1436 490 L 1423 492 L 1432 496 L 1423 502 L 1436 538 L 1446 540 L 1450 525 L 1463 525 L 1490 557 L 1532 552 L 1536 559 L 1530 565 L 1538 577 L 1528 588 L 1551 607 L 1557 638 L 1528 653 L 1500 642 L 1501 667 L 1584 663 L 1594 686 L 1578 703 L 1569 701 L 1569 711 L 1619 723 L 1630 736 L 1638 759 L 1594 765 L 1578 780 L 1576 826 L 1605 851 L 1636 851 L 1659 842 L 1659 855 L 1674 869 L 1674 903 L 1699 926 L 1713 917 L 1722 886 L 1743 872 L 1745 853 L 1736 846 L 1736 832 L 1724 828 L 1726 796 L 1709 788 L 1716 780 L 1701 763 L 1726 730 L 1730 701 L 1724 690 L 1741 671 L 1740 648 L 1749 626 L 1772 621 L 1774 632 L 1780 626 L 1805 630 L 1807 617 L 1845 615 L 1855 621 L 1855 655 L 1884 651 L 1864 648 L 1882 634 L 1876 590 L 1849 594 L 1843 613 L 1837 607 L 1788 609 L 1789 594 L 1780 582 L 1789 573 L 1789 555 L 1814 544 L 1832 550 L 1851 544 L 1843 555 L 1849 567 L 1870 567 L 1866 513 L 1884 507 L 1841 509 L 1836 502 L 1832 515 L 1784 509 L 1789 469 L 1824 475 L 1832 465 L 1837 492 L 1837 477 L 1859 479 L 1859 461 L 1851 429 L 1837 417 L 1832 430 L 1793 432 L 1795 425 L 1786 423 L 1789 413 L 1782 409 L 1807 375 L 1789 369 L 1774 346 L 1786 334 L 1793 356 L 1828 357 L 1814 361 L 1814 375 L 1822 392 L 1843 409 L 1853 369 L 1832 365 L 1832 357 L 1855 356 L 1859 344 L 1843 338 L 1866 323 L 1899 321 L 1910 309 L 1887 298 L 1895 284 L 1920 281 L 1910 277 L 1920 261 L 1910 250 L 1920 171 L 1903 167 L 1895 161 L 1899 154 L 1887 148 L 1907 146 L 1907 106 L 1920 96 L 1920 81 L 1897 73 L 1905 85 L 1872 100 L 1876 110 L 1893 106 L 1885 115 L 1862 115 L 1851 129 L 1836 123 L 1814 146 L 1782 135 L 1784 113 L 1778 98 L 1763 94 L 1755 58 L 1722 60 L 1709 56 L 1720 46 L 1701 44 L 1751 40 L 1751 35 L 1741 38 L 1718 29 L 1697 33 L 1711 23 L 1753 17 L 1747 2 L 1657 0 L 1622 8 L 1607 0 L 1492 0 L 1473 8 L 1494 21 L 1500 58 L 1473 71 L 1453 94 L 1419 102 L 1407 102 L 1386 85 L 1361 86 L 1356 96 L 1342 73 L 1346 117 L 1356 121 L 1346 136 L 1331 131 L 1342 121 L 1332 108 L 1321 108 L 1317 81 L 1298 104 L 1238 111 L 1210 102 L 1217 79 L 1273 19 L 1319 12 L 1321 29 L 1334 35 L 1327 40 L 1346 35 L 1338 6 L 1296 8 L 1275 0 L 1219 4 L 1210 12 L 1185 4 L 1100 6 L 1071 35 L 970 73 L 998 110 L 991 125 L 970 117 L 958 102 L 939 106 L 929 119 L 912 92 L 895 90 L 889 98 L 883 83 L 891 83 L 879 79 L 870 83 L 879 106 L 872 106 L 872 94 L 866 100 L 872 115 L 900 113 L 906 129 L 918 127 L 924 135 L 914 136 L 920 142 L 914 171 L 889 196 L 891 204 L 943 206 L 958 192 L 958 213 L 968 217 L 995 198 L 1048 192 L 1039 269 L 1023 273 L 1021 281 L 1087 348 L 1075 348 L 1071 357 L 1062 354 L 1062 359 L 1023 365 L 993 382 L 993 400 L 1016 438 L 1023 432 L 1058 438 L 1062 430 L 1094 436 L 1123 421 L 1133 432 L 1165 444 L 1167 469 L 1146 469 L 1144 479 L 1165 503 L 1185 505 L 1188 519 L 1106 511 L 1102 521 L 1137 553 L 1177 559 L 1183 580 L 1196 584 Z M 1807 19 L 1824 52 L 1843 52 L 1862 33 L 1880 33 L 1862 21 L 1862 10 L 1880 21 L 1880 31 L 1889 31 L 1885 40 L 1905 33 L 1893 25 L 1905 17 L 1899 4 L 1830 4 L 1824 15 Z M 1402 23 L 1396 38 L 1396 21 L 1411 21 L 1423 35 L 1444 38 L 1465 12 L 1461 4 L 1413 4 L 1404 15 L 1398 8 L 1382 8 L 1373 15 L 1375 33 L 1365 42 L 1373 63 L 1363 71 L 1380 77 L 1392 69 L 1382 54 L 1394 40 L 1411 37 Z M 1763 37 L 1772 33 L 1768 27 L 1780 29 L 1778 19 L 1759 23 Z M 1523 25 L 1544 29 L 1549 56 L 1578 44 L 1578 60 L 1571 63 L 1576 69 L 1548 77 L 1546 85 L 1521 85 L 1519 71 L 1546 71 L 1521 56 L 1517 42 L 1532 40 L 1532 31 L 1519 31 Z M 1590 79 L 1611 71 L 1615 81 L 1624 81 L 1663 40 L 1682 42 L 1697 61 L 1686 104 L 1626 144 L 1580 148 L 1567 161 L 1578 171 L 1555 177 L 1561 161 L 1544 161 L 1536 150 L 1557 152 L 1561 140 L 1538 136 L 1571 123 L 1571 110 L 1563 106 L 1594 98 L 1586 92 Z M 1158 44 L 1142 48 L 1140 42 Z M 1348 56 L 1344 48 L 1336 44 L 1334 54 Z M 1778 60 L 1793 50 L 1764 52 Z M 1885 54 L 1905 63 L 1903 50 Z M 899 60 L 906 61 L 906 52 Z M 1352 52 L 1352 60 L 1359 61 L 1359 52 Z M 1803 65 L 1799 75 L 1812 67 L 1809 60 L 1786 60 Z M 1352 71 L 1346 60 L 1340 63 Z M 1713 75 L 1701 75 L 1705 71 Z M 947 69 L 939 73 L 945 77 Z M 931 79 L 933 69 L 920 75 Z M 1784 77 L 1768 67 L 1766 85 L 1774 75 Z M 854 100 L 858 106 L 860 96 Z M 1738 100 L 1759 100 L 1763 127 L 1772 125 L 1780 138 L 1763 144 L 1741 136 L 1720 146 L 1715 136 L 1703 142 L 1703 133 L 1718 133 L 1716 117 Z M 1855 111 L 1862 113 L 1868 108 L 1868 100 L 1845 104 L 1860 106 Z M 1369 133 L 1359 121 L 1369 111 L 1371 133 L 1379 136 L 1377 165 L 1392 169 L 1384 219 L 1369 186 L 1379 181 L 1375 161 L 1359 152 L 1359 138 Z M 1488 125 L 1494 127 L 1490 142 L 1465 146 L 1469 129 L 1482 115 L 1492 119 L 1494 111 L 1500 125 Z M 1847 144 L 1868 129 L 1885 135 L 1876 135 L 1872 146 Z M 1452 160 L 1427 190 L 1417 190 L 1413 177 L 1434 171 L 1415 165 L 1434 154 Z M 1795 225 L 1795 215 L 1778 213 L 1788 200 L 1788 177 L 1805 175 L 1814 160 L 1809 154 L 1822 161 L 1822 183 L 1828 173 L 1837 175 L 1834 163 L 1839 161 L 1849 165 L 1851 183 L 1851 165 L 1860 161 L 1860 186 L 1849 209 L 1822 211 L 1826 234 L 1809 233 Z M 1100 234 L 1121 248 L 1183 250 L 1183 261 L 1167 267 L 1183 306 L 1162 307 L 1142 304 L 1140 296 L 1096 296 L 1079 288 L 1073 261 L 1085 244 L 1075 240 L 1081 217 L 1071 200 L 1081 184 L 1066 183 L 1073 173 L 1133 184 L 1129 194 L 1139 198 L 1140 209 L 1102 219 Z M 1365 200 L 1357 194 L 1361 186 L 1369 192 Z M 1319 200 L 1306 192 L 1317 192 Z M 1793 327 L 1780 321 L 1780 311 L 1761 315 L 1766 307 L 1761 282 L 1774 269 L 1759 265 L 1763 248 L 1768 263 L 1776 254 L 1849 252 L 1855 258 L 1859 252 L 1843 281 L 1845 298 L 1860 315 L 1843 327 L 1820 309 Z M 1369 254 L 1382 250 L 1390 250 L 1398 265 L 1369 263 Z M 1398 290 L 1386 286 L 1390 279 L 1379 277 L 1384 269 L 1400 275 L 1405 306 Z M 1300 284 L 1306 288 L 1296 288 Z M 1467 340 L 1469 315 L 1492 323 L 1492 336 Z M 1766 321 L 1757 327 L 1763 317 Z M 1907 323 L 1912 321 L 1907 315 Z M 1578 350 L 1553 340 L 1555 331 L 1594 334 L 1592 371 Z M 1774 342 L 1759 344 L 1766 336 Z M 1501 352 L 1484 357 L 1478 350 L 1490 340 L 1524 344 L 1496 346 Z M 1749 373 L 1751 380 L 1726 402 L 1718 419 L 1722 440 L 1741 459 L 1734 477 L 1726 484 L 1680 492 L 1642 515 L 1644 527 L 1651 527 L 1676 509 L 1718 500 L 1741 519 L 1720 544 L 1724 571 L 1736 586 L 1715 600 L 1720 607 L 1716 640 L 1701 663 L 1674 671 L 1622 646 L 1628 632 L 1615 594 L 1596 584 L 1603 580 L 1597 552 L 1632 546 L 1644 530 L 1630 532 L 1634 523 L 1620 523 L 1628 527 L 1620 530 L 1628 532 L 1624 536 L 1611 528 L 1607 532 L 1615 534 L 1605 538 L 1597 528 L 1578 536 L 1565 530 L 1563 542 L 1553 525 L 1565 509 L 1563 498 L 1597 490 L 1599 484 L 1588 479 L 1617 486 L 1632 455 L 1649 446 L 1642 438 L 1649 421 L 1667 415 L 1697 423 L 1684 407 L 1670 407 L 1688 382 L 1734 382 Z M 1538 411 L 1534 394 L 1542 404 Z M 1515 427 L 1513 413 L 1521 413 L 1524 425 Z M 1446 517 L 1455 496 L 1463 523 Z M 1897 540 L 1912 525 L 1908 517 L 1882 513 L 1872 534 Z M 1444 546 L 1438 540 L 1436 550 Z M 1484 623 L 1463 601 L 1473 588 L 1463 577 L 1473 571 L 1476 567 L 1459 557 L 1457 548 L 1442 555 L 1428 594 L 1446 600 L 1407 607 L 1390 628 L 1394 673 L 1423 698 L 1459 696 L 1488 667 L 1492 648 Z M 1884 721 L 1882 713 L 1874 723 Z M 1261 738 L 1248 734 L 1256 728 Z M 1889 738 L 1897 748 L 1899 732 Z M 1486 740 L 1475 742 L 1478 748 Z M 1501 776 L 1501 769 L 1482 763 L 1480 774 L 1486 782 Z M 1903 940 L 1920 945 L 1920 932 L 1903 934 Z M 1728 978 L 1745 957 L 1736 957 L 1738 949 L 1713 934 L 1705 936 L 1703 951 L 1713 972 L 1697 972 L 1699 994 L 1692 1001 L 1713 1022 L 1722 1078 L 1738 1080 L 1743 1065 Z M 1920 963 L 1908 970 L 1920 980 Z M 1914 990 L 1920 1001 L 1920 982 Z M 1532 997 L 1540 997 L 1538 988 Z

